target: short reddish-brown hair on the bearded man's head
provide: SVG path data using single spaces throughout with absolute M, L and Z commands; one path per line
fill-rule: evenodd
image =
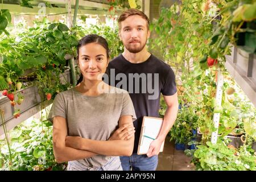
M 123 13 L 119 16 L 118 18 L 118 26 L 119 26 L 119 31 L 121 30 L 121 22 L 123 22 L 124 20 L 126 20 L 126 18 L 128 18 L 129 16 L 133 16 L 133 15 L 139 15 L 141 16 L 141 18 L 145 19 L 147 22 L 147 30 L 149 30 L 149 24 L 150 24 L 150 20 L 148 19 L 147 15 L 144 14 L 142 11 L 137 10 L 137 9 L 129 9 L 126 11 L 123 11 Z

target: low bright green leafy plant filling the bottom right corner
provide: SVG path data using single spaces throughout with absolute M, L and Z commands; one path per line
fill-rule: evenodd
M 229 141 L 227 141 L 228 143 Z M 234 148 L 222 140 L 216 144 L 207 142 L 206 146 L 197 146 L 197 150 L 186 150 L 193 155 L 192 163 L 198 171 L 254 171 L 256 155 L 251 148 Z

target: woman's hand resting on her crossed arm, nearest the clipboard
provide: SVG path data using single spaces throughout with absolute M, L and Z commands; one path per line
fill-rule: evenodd
M 135 133 L 133 123 L 125 123 L 110 136 L 109 140 L 129 140 Z

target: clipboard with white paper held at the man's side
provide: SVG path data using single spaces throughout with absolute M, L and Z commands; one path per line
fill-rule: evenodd
M 141 135 L 139 137 L 138 155 L 147 154 L 152 140 L 158 137 L 163 125 L 163 118 L 143 117 Z M 160 147 L 160 152 L 163 152 L 164 141 Z

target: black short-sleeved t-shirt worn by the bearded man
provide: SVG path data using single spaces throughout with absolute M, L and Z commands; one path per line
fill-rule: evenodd
M 175 75 L 170 65 L 151 55 L 142 63 L 130 63 L 119 55 L 110 61 L 104 81 L 111 86 L 125 89 L 133 101 L 137 120 L 134 121 L 134 150 L 137 152 L 143 116 L 159 117 L 160 93 L 176 93 Z

